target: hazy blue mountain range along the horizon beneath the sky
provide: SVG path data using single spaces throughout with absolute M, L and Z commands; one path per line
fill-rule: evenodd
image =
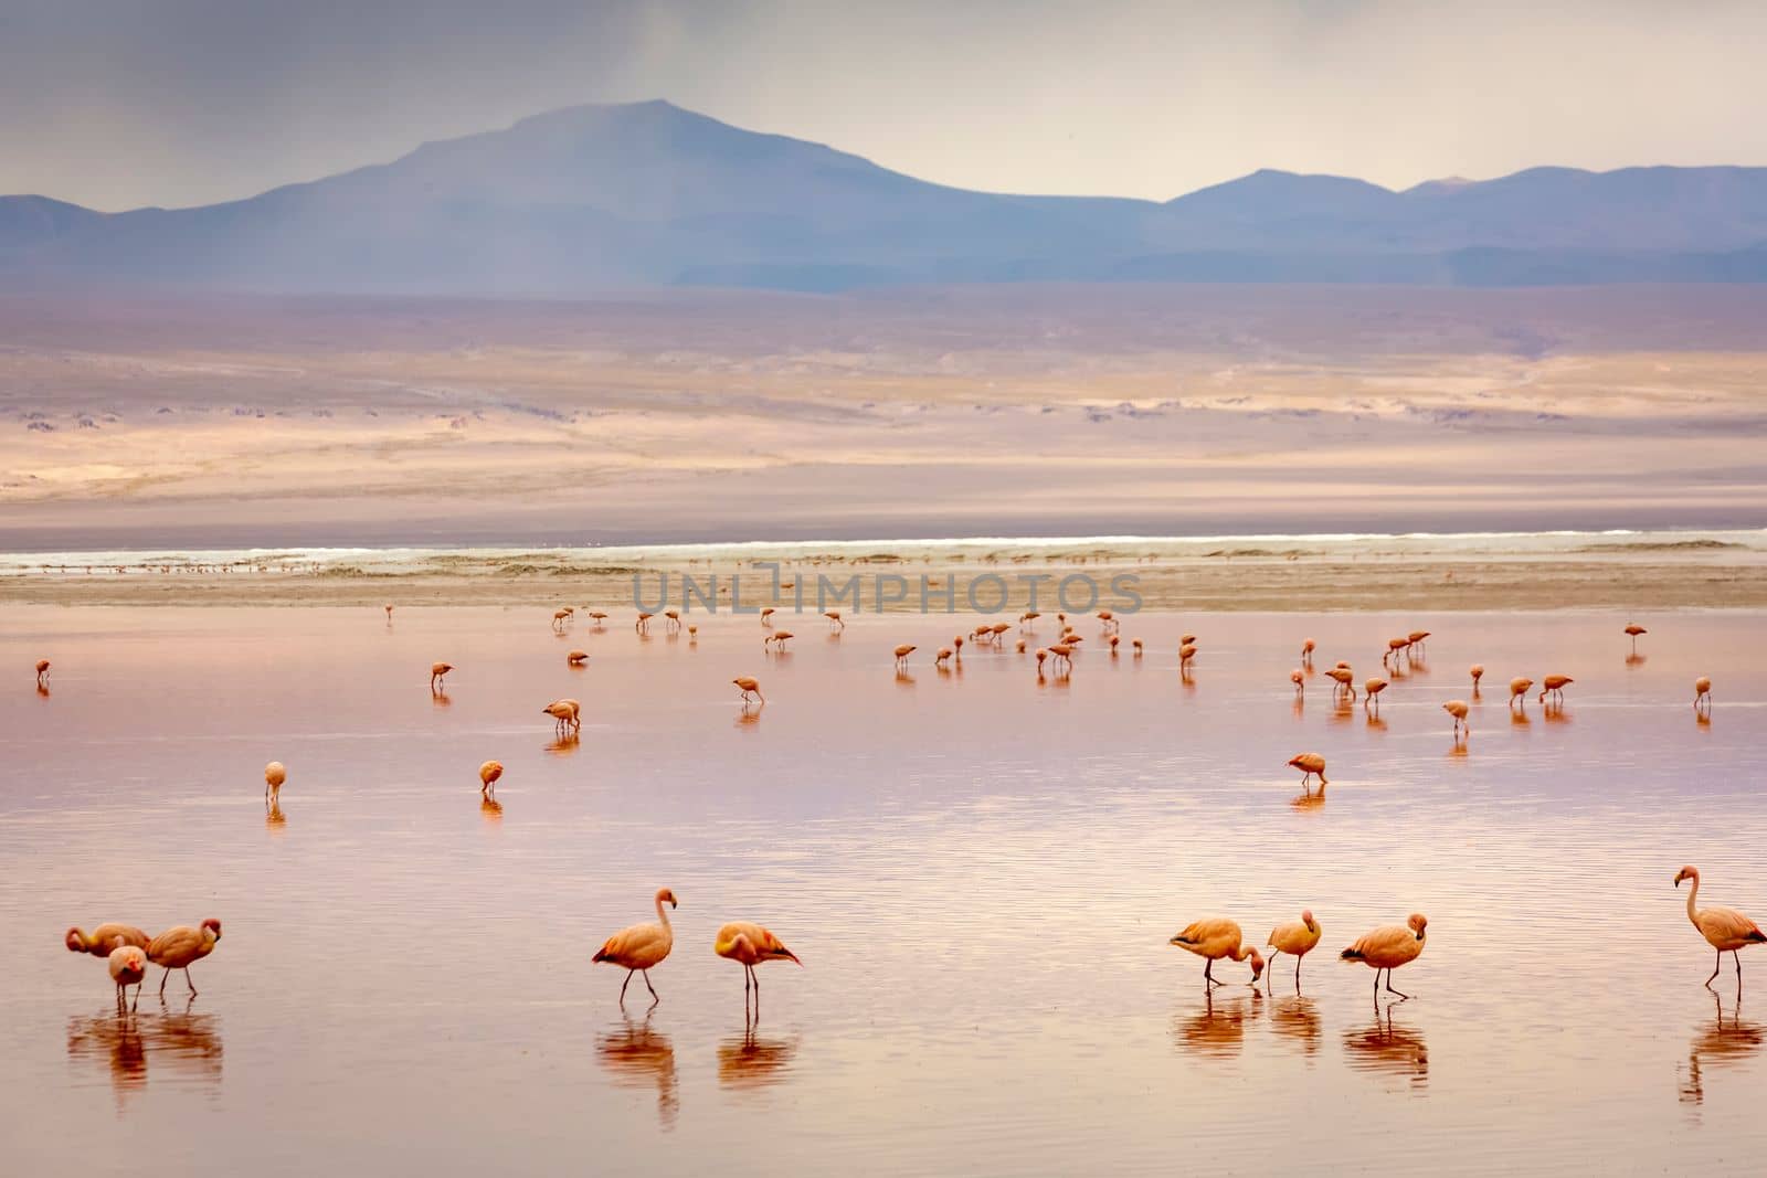
M 1166 203 L 970 193 L 668 102 L 578 106 L 200 208 L 0 198 L 0 286 L 574 295 L 1035 279 L 1767 281 L 1767 168 L 1391 189 L 1258 171 Z

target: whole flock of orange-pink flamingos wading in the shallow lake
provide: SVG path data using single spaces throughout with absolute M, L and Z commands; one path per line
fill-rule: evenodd
M 387 622 L 392 622 L 392 606 L 385 606 Z M 762 611 L 762 627 L 769 631 L 763 638 L 763 650 L 783 650 L 785 643 L 792 639 L 790 631 L 772 631 L 774 609 Z M 574 616 L 574 608 L 562 608 L 553 613 L 553 629 L 564 632 Z M 608 618 L 606 613 L 588 611 L 595 629 Z M 640 611 L 634 620 L 634 629 L 640 634 L 648 632 L 652 613 Z M 682 620 L 679 611 L 664 611 L 664 623 L 670 631 L 679 631 Z M 845 618 L 838 609 L 830 609 L 823 615 L 830 627 L 843 631 L 846 627 Z M 1035 623 L 1043 615 L 1037 611 L 1027 611 L 1018 618 L 1018 627 L 1023 636 L 1035 634 Z M 1117 655 L 1119 646 L 1119 620 L 1111 611 L 1103 609 L 1097 615 L 1101 623 L 1101 639 L 1110 646 L 1111 655 Z M 1035 648 L 1035 669 L 1037 676 L 1044 675 L 1044 664 L 1053 661 L 1053 669 L 1058 675 L 1071 673 L 1073 653 L 1085 641 L 1081 634 L 1076 632 L 1074 625 L 1069 623 L 1067 615 L 1057 615 L 1062 625 L 1060 639 L 1050 643 L 1048 646 Z M 698 634 L 696 625 L 686 627 L 689 636 Z M 998 648 L 1004 636 L 1011 631 L 1011 623 L 997 622 L 979 625 L 968 634 L 972 645 L 988 645 Z M 1647 634 L 1645 627 L 1631 623 L 1624 629 L 1633 641 L 1633 655 L 1636 657 L 1638 638 Z M 1387 650 L 1382 653 L 1382 669 L 1398 675 L 1401 662 L 1410 662 L 1415 655 L 1424 652 L 1424 643 L 1430 638 L 1428 631 L 1414 631 L 1405 638 L 1392 638 L 1387 641 Z M 938 648 L 935 655 L 935 666 L 944 666 L 951 659 L 961 659 L 965 636 L 952 638 L 951 646 Z M 901 673 L 908 657 L 919 650 L 919 646 L 903 643 L 894 648 L 896 669 Z M 1020 638 L 1016 643 L 1020 653 L 1027 652 L 1027 639 Z M 1134 657 L 1143 655 L 1143 646 L 1140 639 L 1133 639 L 1131 650 Z M 1304 668 L 1313 666 L 1313 653 L 1316 643 L 1309 638 L 1301 646 L 1301 662 Z M 1179 639 L 1179 669 L 1180 675 L 1189 675 L 1191 664 L 1196 659 L 1198 638 L 1194 634 L 1184 634 Z M 583 650 L 571 650 L 565 655 L 571 666 L 583 666 L 588 661 L 588 653 Z M 37 661 L 37 689 L 46 692 L 49 676 L 49 661 Z M 442 692 L 445 676 L 452 671 L 449 662 L 435 662 L 429 668 L 429 689 L 431 692 Z M 1355 701 L 1355 676 L 1348 662 L 1338 662 L 1325 671 L 1327 678 L 1334 682 L 1334 694 L 1350 703 Z M 1472 675 L 1472 698 L 1479 698 L 1479 680 L 1484 676 L 1484 666 L 1474 664 Z M 1297 698 L 1306 692 L 1306 673 L 1295 669 L 1290 673 L 1290 680 L 1295 685 Z M 760 682 L 755 676 L 739 675 L 730 680 L 747 708 L 751 703 L 765 705 L 767 698 L 762 694 Z M 1564 706 L 1564 689 L 1574 680 L 1567 675 L 1546 675 L 1541 680 L 1539 703 L 1543 706 Z M 1389 680 L 1373 676 L 1362 683 L 1362 701 L 1364 708 L 1378 708 L 1378 699 L 1382 692 L 1387 691 Z M 1527 708 L 1528 691 L 1534 687 L 1532 678 L 1514 678 L 1509 682 L 1509 706 Z M 1712 706 L 1712 682 L 1700 676 L 1695 682 L 1695 701 L 1696 715 L 1709 717 Z M 1463 740 L 1470 731 L 1467 726 L 1468 705 L 1465 699 L 1451 699 L 1442 705 L 1442 708 L 1454 719 L 1454 738 Z M 581 729 L 581 703 L 576 699 L 555 699 L 548 703 L 542 710 L 544 715 L 553 719 L 555 731 L 558 735 L 573 735 Z M 1320 791 L 1329 784 L 1325 779 L 1325 758 L 1318 752 L 1301 752 L 1290 758 L 1288 765 L 1302 772 L 1301 782 L 1304 789 L 1311 789 L 1313 779 L 1318 779 Z M 498 779 L 504 775 L 504 765 L 500 761 L 484 761 L 479 766 L 479 789 L 486 798 L 495 797 L 495 788 Z M 281 761 L 270 761 L 263 768 L 263 788 L 265 802 L 272 809 L 277 805 L 281 797 L 281 788 L 288 781 L 288 770 Z M 1733 908 L 1700 908 L 1700 872 L 1695 867 L 1682 867 L 1675 874 L 1675 887 L 1679 888 L 1682 881 L 1691 881 L 1693 887 L 1687 890 L 1687 918 L 1693 927 L 1700 931 L 1705 941 L 1718 952 L 1718 963 L 1712 970 L 1712 977 L 1707 978 L 1707 985 L 1718 978 L 1723 970 L 1725 954 L 1732 955 L 1737 970 L 1737 985 L 1742 985 L 1742 959 L 1739 950 L 1749 945 L 1767 943 L 1767 934 L 1762 933 L 1760 925 L 1744 917 Z M 620 984 L 620 1005 L 626 1003 L 626 991 L 631 985 L 634 975 L 640 975 L 645 982 L 645 989 L 650 991 L 652 1005 L 659 1001 L 656 987 L 650 984 L 650 970 L 659 966 L 668 959 L 670 952 L 675 948 L 675 931 L 670 924 L 668 911 L 677 906 L 675 892 L 671 888 L 657 890 L 654 897 L 656 915 L 654 922 L 634 924 L 627 929 L 620 929 L 610 936 L 599 950 L 595 950 L 592 963 L 606 963 L 626 970 L 626 980 Z M 1417 961 L 1424 952 L 1428 920 L 1422 913 L 1412 913 L 1401 925 L 1385 925 L 1362 934 L 1352 945 L 1348 945 L 1339 957 L 1343 961 L 1361 961 L 1375 971 L 1375 996 L 1378 1001 L 1382 989 L 1382 973 L 1385 973 L 1387 993 L 1398 996 L 1399 1000 L 1410 998 L 1403 991 L 1394 989 L 1392 971 Z M 1301 985 L 1301 963 L 1313 952 L 1323 933 L 1315 920 L 1313 911 L 1306 910 L 1301 913 L 1301 920 L 1279 924 L 1270 929 L 1270 934 L 1263 938 L 1262 945 L 1270 947 L 1274 952 L 1270 961 L 1281 954 L 1288 954 L 1295 959 L 1295 987 Z M 102 957 L 110 970 L 110 977 L 117 985 L 117 1003 L 118 1007 L 127 1001 L 127 987 L 136 987 L 136 1003 L 140 1003 L 141 985 L 147 978 L 147 970 L 150 964 L 157 964 L 164 970 L 159 980 L 159 994 L 166 993 L 166 978 L 171 977 L 173 970 L 182 970 L 186 984 L 189 985 L 191 996 L 196 994 L 196 985 L 191 980 L 189 968 L 196 961 L 201 961 L 216 945 L 221 941 L 221 922 L 216 918 L 203 920 L 198 927 L 178 925 L 161 933 L 159 936 L 148 936 L 141 929 L 129 924 L 106 922 L 97 925 L 90 934 L 74 927 L 67 931 L 67 948 L 76 954 L 90 954 Z M 1205 961 L 1203 964 L 1203 984 L 1207 987 L 1225 985 L 1221 978 L 1214 977 L 1214 964 L 1217 961 L 1233 963 L 1251 963 L 1251 984 L 1256 984 L 1263 977 L 1265 959 L 1258 952 L 1256 943 L 1244 940 L 1240 925 L 1225 917 L 1210 917 L 1196 920 L 1177 933 L 1172 945 L 1184 948 Z M 742 991 L 744 1005 L 753 993 L 756 1000 L 756 1008 L 760 1001 L 760 977 L 755 973 L 756 966 L 769 961 L 792 961 L 799 966 L 797 954 L 785 947 L 785 943 L 774 936 L 769 929 L 753 922 L 730 922 L 717 929 L 712 950 L 728 961 L 735 961 L 742 966 Z

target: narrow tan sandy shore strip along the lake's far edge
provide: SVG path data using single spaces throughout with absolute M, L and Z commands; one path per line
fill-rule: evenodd
M 235 565 L 178 562 L 32 567 L 0 576 L 0 602 L 62 606 L 521 606 L 606 609 L 629 618 L 684 608 L 684 578 L 700 597 L 686 611 L 822 608 L 848 615 L 947 609 L 1076 613 L 1110 608 L 1207 611 L 1465 609 L 1737 609 L 1767 608 L 1767 560 L 1753 546 L 1585 544 L 1576 553 L 1343 555 L 1212 549 L 1149 556 L 1101 547 L 1058 558 L 990 551 L 944 558 L 747 551 L 744 560 L 647 556 L 597 562 L 583 553 L 449 553 L 382 562 L 336 558 Z M 1327 549 L 1332 546 L 1325 546 Z M 1338 546 L 1343 547 L 1343 546 Z M 756 563 L 774 560 L 774 574 Z M 776 588 L 777 579 L 777 588 Z M 922 593 L 922 579 L 926 592 Z M 820 600 L 818 600 L 820 588 Z M 1096 599 L 1092 597 L 1096 590 Z M 636 593 L 636 597 L 634 597 Z M 1066 600 L 1060 600 L 1066 593 Z M 1136 602 L 1138 599 L 1138 602 Z M 857 608 L 855 608 L 857 606 Z M 816 620 L 820 625 L 820 618 Z

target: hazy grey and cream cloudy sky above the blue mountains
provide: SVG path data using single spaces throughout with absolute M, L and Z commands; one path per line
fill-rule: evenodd
M 0 0 L 0 193 L 205 203 L 647 97 L 1020 193 L 1767 164 L 1763 46 L 1758 2 Z

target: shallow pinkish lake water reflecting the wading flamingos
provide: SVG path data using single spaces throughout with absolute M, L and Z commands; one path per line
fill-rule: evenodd
M 1039 682 L 1012 636 L 929 668 L 967 616 L 790 618 L 793 650 L 763 657 L 753 618 L 645 641 L 534 609 L 0 609 L 5 1171 L 69 1148 L 196 1174 L 1262 1173 L 1376 1148 L 1742 1171 L 1767 1146 L 1767 952 L 1742 954 L 1740 1005 L 1728 961 L 1703 989 L 1672 878 L 1696 864 L 1702 902 L 1767 915 L 1767 616 L 1643 618 L 1640 661 L 1626 620 L 1141 615 L 1145 659 L 1094 638 Z M 1302 636 L 1361 680 L 1419 627 L 1428 664 L 1382 722 L 1323 675 L 1295 706 Z M 1440 703 L 1474 661 L 1456 751 Z M 1576 676 L 1564 712 L 1511 721 L 1502 683 L 1546 671 Z M 767 706 L 746 715 L 733 675 Z M 539 708 L 567 694 L 587 721 L 558 747 Z M 1323 800 L 1283 765 L 1302 749 L 1331 763 Z M 664 885 L 663 1001 L 633 982 L 622 1014 L 622 971 L 588 959 Z M 1166 945 L 1304 906 L 1325 940 L 1301 994 L 1285 957 L 1205 996 Z M 1376 1003 L 1336 950 L 1408 911 L 1430 917 L 1396 977 L 1414 998 Z M 203 917 L 224 936 L 201 994 L 175 977 L 161 1003 L 154 970 L 127 1019 L 60 945 Z M 762 968 L 758 1019 L 710 950 L 732 918 L 804 959 Z

